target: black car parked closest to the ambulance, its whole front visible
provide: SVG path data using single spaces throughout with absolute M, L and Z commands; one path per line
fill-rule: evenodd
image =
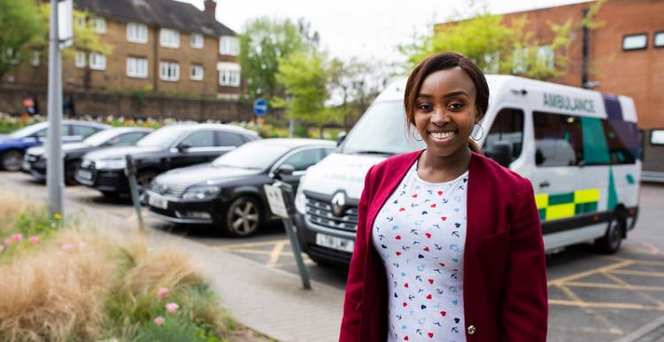
M 246 237 L 270 217 L 263 185 L 274 183 L 274 172 L 292 167 L 292 174 L 282 180 L 296 187 L 306 168 L 335 148 L 326 140 L 259 140 L 212 163 L 159 175 L 145 199 L 150 213 L 160 219 L 214 224 L 230 236 Z

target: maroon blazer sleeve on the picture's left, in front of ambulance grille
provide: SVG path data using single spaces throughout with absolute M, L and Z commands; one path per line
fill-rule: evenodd
M 367 260 L 367 206 L 371 198 L 372 171 L 371 167 L 365 176 L 364 189 L 358 204 L 358 230 L 355 237 L 355 248 L 351 257 L 351 268 L 348 271 L 344 299 L 344 317 L 341 321 L 340 342 L 359 341 L 359 319 L 362 308 L 362 291 L 364 291 L 364 270 Z

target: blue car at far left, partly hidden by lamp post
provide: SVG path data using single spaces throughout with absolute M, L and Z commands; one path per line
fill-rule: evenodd
M 45 121 L 20 128 L 8 136 L 0 136 L 0 168 L 7 171 L 20 171 L 23 154 L 28 148 L 44 143 L 48 128 L 49 122 Z M 111 126 L 96 122 L 63 120 L 62 142 L 80 142 L 107 128 L 111 128 Z

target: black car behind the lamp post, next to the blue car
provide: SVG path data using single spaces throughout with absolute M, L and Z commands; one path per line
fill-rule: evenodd
M 83 155 L 111 146 L 131 145 L 152 132 L 151 128 L 109 128 L 88 136 L 81 143 L 63 144 L 65 159 L 65 183 L 76 183 L 76 170 Z M 43 146 L 27 149 L 23 159 L 23 171 L 33 175 L 38 181 L 46 180 L 46 149 Z

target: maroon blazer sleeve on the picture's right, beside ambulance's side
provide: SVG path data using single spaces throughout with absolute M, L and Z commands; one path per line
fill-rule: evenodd
M 505 297 L 502 301 L 504 342 L 544 342 L 548 320 L 544 241 L 535 194 L 522 179 L 510 218 L 510 245 Z

